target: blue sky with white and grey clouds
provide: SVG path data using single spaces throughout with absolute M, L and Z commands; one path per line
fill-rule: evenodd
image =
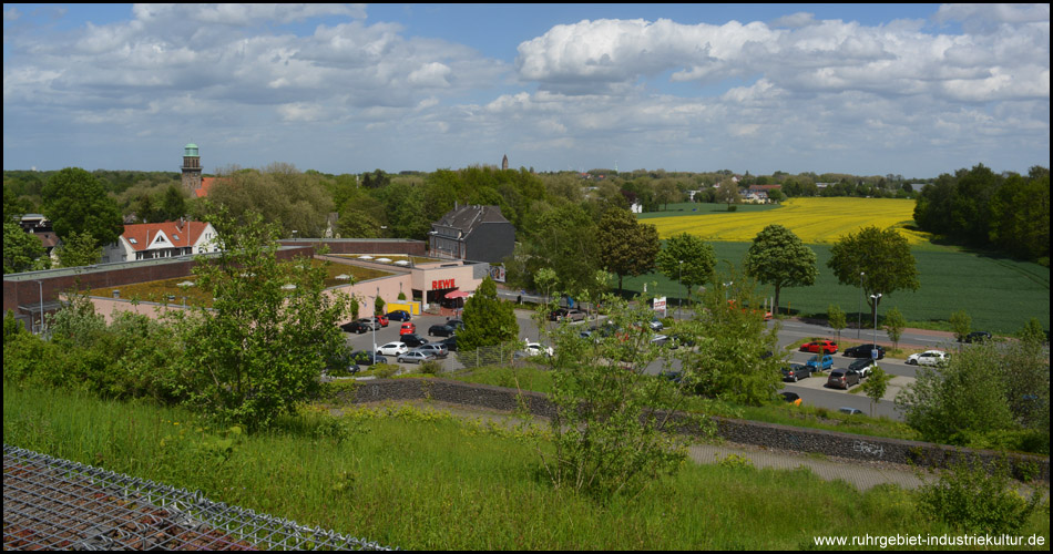
M 1049 4 L 4 4 L 3 168 L 1050 166 Z

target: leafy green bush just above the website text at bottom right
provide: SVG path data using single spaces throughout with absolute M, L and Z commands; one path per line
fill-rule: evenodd
M 1010 485 L 1009 470 L 999 461 L 988 474 L 979 460 L 960 460 L 937 483 L 919 491 L 921 509 L 971 534 L 1018 534 L 1039 505 L 1040 494 L 1025 500 Z

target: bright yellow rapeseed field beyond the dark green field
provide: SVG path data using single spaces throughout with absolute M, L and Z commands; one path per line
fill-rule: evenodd
M 906 229 L 913 223 L 914 202 L 896 198 L 790 198 L 781 207 L 763 212 L 729 212 L 706 215 L 655 217 L 643 220 L 658 228 L 661 238 L 691 233 L 705 240 L 752 242 L 771 224 L 793 230 L 807 244 L 837 242 L 840 237 L 876 225 L 894 227 L 910 244 L 929 239 L 926 233 Z

